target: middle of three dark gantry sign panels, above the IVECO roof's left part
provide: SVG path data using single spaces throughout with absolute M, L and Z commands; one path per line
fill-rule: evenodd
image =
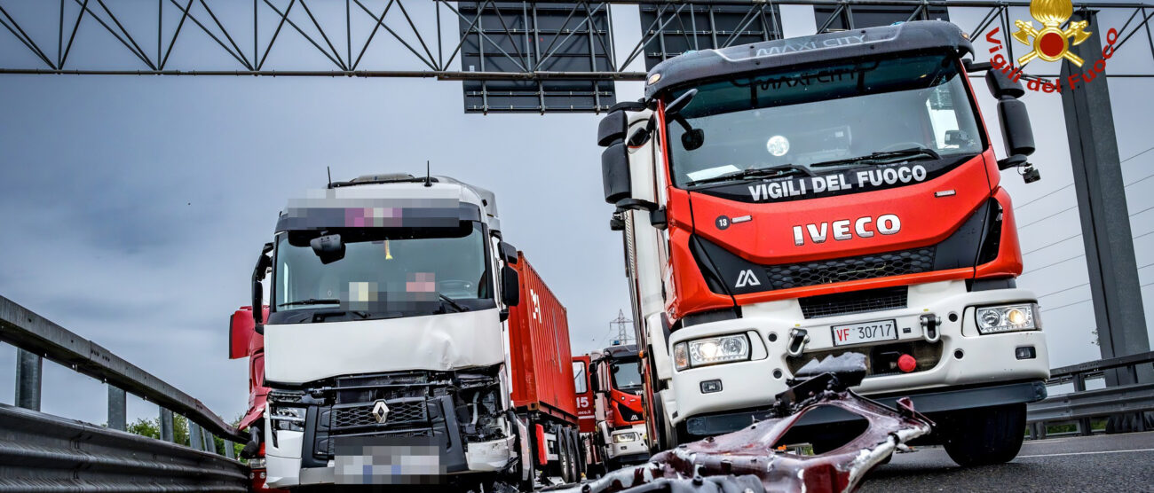
M 645 69 L 694 50 L 781 39 L 777 5 L 642 5 Z

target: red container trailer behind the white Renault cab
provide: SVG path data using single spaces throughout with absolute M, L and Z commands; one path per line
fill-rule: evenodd
M 546 475 L 577 481 L 584 472 L 584 458 L 565 308 L 523 252 L 517 252 L 515 267 L 520 279 L 520 303 L 509 312 L 512 403 L 534 438 L 535 465 Z

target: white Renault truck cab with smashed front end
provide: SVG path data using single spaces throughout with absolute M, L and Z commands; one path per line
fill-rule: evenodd
M 267 321 L 254 312 L 268 485 L 469 483 L 527 457 L 504 327 L 516 263 L 493 194 L 452 179 L 290 200 L 253 274 L 260 306 L 271 272 Z

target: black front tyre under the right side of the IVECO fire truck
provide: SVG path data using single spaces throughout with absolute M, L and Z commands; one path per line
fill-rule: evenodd
M 958 411 L 947 418 L 945 448 L 958 465 L 1010 462 L 1026 438 L 1026 404 Z

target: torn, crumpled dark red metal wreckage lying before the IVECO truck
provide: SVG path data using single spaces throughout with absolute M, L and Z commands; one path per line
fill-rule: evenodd
M 799 372 L 788 390 L 778 394 L 773 415 L 733 433 L 684 443 L 642 465 L 622 469 L 580 486 L 572 493 L 612 492 L 850 492 L 874 467 L 894 450 L 928 434 L 932 422 L 914 410 L 908 399 L 893 409 L 862 397 L 849 387 L 865 376 L 864 356 L 847 352 L 816 359 Z M 816 455 L 779 448 L 786 433 L 807 412 L 834 407 L 868 422 L 861 434 Z

